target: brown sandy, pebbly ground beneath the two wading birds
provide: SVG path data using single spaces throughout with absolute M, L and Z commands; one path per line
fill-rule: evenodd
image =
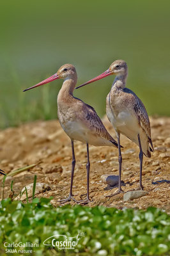
M 103 119 L 105 126 L 116 139 L 112 125 L 107 118 Z M 169 205 L 169 164 L 170 164 L 170 118 L 150 118 L 151 134 L 155 152 L 150 159 L 144 157 L 143 186 L 148 195 L 132 201 L 124 202 L 123 194 L 106 198 L 114 193 L 116 188 L 108 188 L 101 175 L 118 175 L 118 150 L 114 147 L 89 147 L 90 198 L 88 205 L 105 205 L 107 207 L 132 207 L 146 209 L 155 206 L 170 211 Z M 139 182 L 139 148 L 132 141 L 121 136 L 123 165 L 121 180 L 125 182 L 124 191 L 138 188 Z M 38 193 L 37 197 L 53 196 L 52 204 L 61 205 L 58 200 L 68 196 L 70 188 L 72 152 L 70 139 L 61 129 L 59 122 L 33 122 L 20 127 L 0 131 L 0 168 L 6 173 L 30 164 L 34 168 L 6 178 L 4 197 L 8 196 L 13 180 L 15 196 L 20 190 L 31 184 L 34 175 L 37 182 L 43 182 L 50 189 Z M 86 145 L 75 142 L 75 177 L 73 194 L 75 198 L 86 198 Z M 0 177 L 2 184 L 2 175 Z M 44 189 L 45 190 L 45 189 Z M 15 197 L 14 196 L 14 197 Z M 75 202 L 70 202 L 75 204 Z

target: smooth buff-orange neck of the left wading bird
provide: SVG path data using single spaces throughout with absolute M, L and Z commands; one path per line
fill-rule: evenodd
M 73 97 L 73 90 L 75 88 L 75 84 L 77 83 L 77 77 L 74 79 L 66 78 L 59 93 L 58 93 L 58 102 L 65 101 L 68 98 Z

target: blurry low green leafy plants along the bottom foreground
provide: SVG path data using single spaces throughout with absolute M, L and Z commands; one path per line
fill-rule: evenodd
M 51 199 L 51 198 L 50 198 Z M 50 199 L 34 198 L 23 204 L 8 198 L 0 204 L 0 254 L 10 250 L 35 250 L 33 255 L 169 255 L 170 218 L 153 207 L 144 210 L 65 205 L 54 208 Z M 84 233 L 74 250 L 43 245 L 48 237 L 76 237 Z M 56 239 L 57 240 L 57 239 Z M 8 243 L 38 243 L 38 247 L 13 248 Z M 53 244 L 54 245 L 54 244 Z M 7 251 L 6 251 L 7 250 Z M 15 251 L 12 255 L 19 255 Z M 22 255 L 22 253 L 21 253 Z M 23 254 L 24 255 L 24 254 Z

